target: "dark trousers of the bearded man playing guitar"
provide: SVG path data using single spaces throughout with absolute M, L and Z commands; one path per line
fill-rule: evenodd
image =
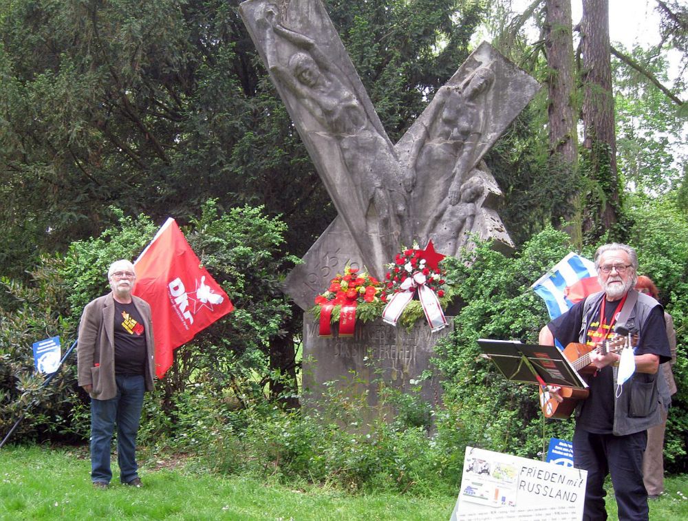
M 643 485 L 643 453 L 647 432 L 627 436 L 593 434 L 576 427 L 573 435 L 573 462 L 588 471 L 583 520 L 607 519 L 604 481 L 612 476 L 619 521 L 647 520 L 647 491 Z

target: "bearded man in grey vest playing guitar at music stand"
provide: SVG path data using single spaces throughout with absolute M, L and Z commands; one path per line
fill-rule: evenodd
M 603 485 L 610 474 L 619 520 L 647 520 L 643 452 L 647 429 L 662 421 L 657 370 L 671 359 L 664 312 L 655 299 L 633 289 L 638 256 L 630 246 L 601 246 L 595 268 L 603 290 L 548 323 L 539 341 L 584 343 L 596 368 L 587 379 L 590 394 L 577 406 L 573 436 L 574 467 L 588 471 L 583 519 L 607 519 Z M 617 326 L 638 338 L 621 368 L 621 355 L 604 348 Z M 556 387 L 550 392 L 561 400 Z

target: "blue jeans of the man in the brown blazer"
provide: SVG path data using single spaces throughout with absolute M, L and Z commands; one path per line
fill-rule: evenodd
M 117 424 L 117 462 L 120 481 L 138 478 L 136 434 L 143 408 L 143 376 L 115 376 L 117 396 L 109 400 L 91 398 L 91 480 L 109 483 L 110 445 Z

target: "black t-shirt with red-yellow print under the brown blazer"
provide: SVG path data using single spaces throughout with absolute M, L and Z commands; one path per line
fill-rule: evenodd
M 146 331 L 136 306 L 115 301 L 115 374 L 144 374 Z

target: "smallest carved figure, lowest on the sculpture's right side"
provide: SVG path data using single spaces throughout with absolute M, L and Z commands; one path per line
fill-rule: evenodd
M 447 197 L 447 204 L 442 205 L 433 219 L 429 237 L 436 244 L 442 244 L 442 252 L 446 255 L 458 256 L 460 248 L 468 241 L 484 191 L 480 177 L 472 176 L 462 185 L 459 200 L 453 202 L 453 198 Z

